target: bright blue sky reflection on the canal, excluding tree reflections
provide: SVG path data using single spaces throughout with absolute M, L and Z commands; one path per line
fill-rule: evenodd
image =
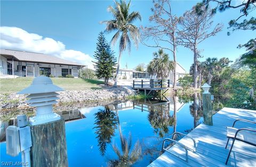
M 80 111 L 85 119 L 79 119 L 66 123 L 66 138 L 68 148 L 68 163 L 69 166 L 107 166 L 107 162 L 111 158 L 117 158 L 111 144 L 107 144 L 107 151 L 104 156 L 99 152 L 98 141 L 95 135 L 94 114 L 104 109 L 103 106 L 82 108 Z M 116 112 L 115 112 L 116 113 Z M 161 149 L 162 138 L 154 133 L 154 128 L 151 127 L 148 114 L 149 112 L 139 109 L 129 108 L 125 111 L 118 111 L 119 120 L 123 136 L 132 135 L 132 147 L 137 140 L 142 144 L 142 150 L 146 148 Z M 170 111 L 172 116 L 173 111 Z M 194 118 L 190 115 L 189 104 L 185 104 L 179 112 L 177 112 L 177 131 L 186 133 L 185 130 L 191 129 L 194 126 Z M 173 127 L 169 127 L 169 133 L 173 132 Z M 166 136 L 170 137 L 170 136 Z M 119 149 L 120 138 L 118 128 L 115 130 L 115 136 L 112 138 L 112 143 L 116 144 Z M 156 146 L 155 146 L 156 145 Z M 11 157 L 6 155 L 6 145 L 1 143 L 1 161 L 21 161 L 21 156 Z M 156 158 L 156 157 L 155 157 Z M 142 160 L 134 164 L 134 166 L 146 166 L 154 160 L 150 155 L 144 156 Z

